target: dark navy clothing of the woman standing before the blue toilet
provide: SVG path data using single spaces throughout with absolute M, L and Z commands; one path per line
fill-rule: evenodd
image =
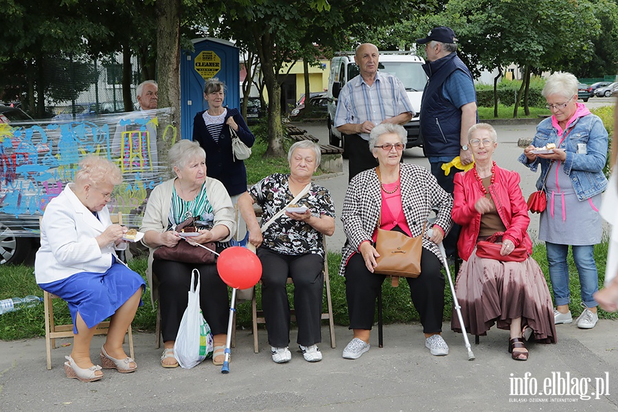
M 244 168 L 242 160 L 235 159 L 233 156 L 229 126 L 225 122 L 230 116 L 234 118 L 234 122 L 238 124 L 236 134 L 249 147 L 253 146 L 255 136 L 242 119 L 238 108 L 228 108 L 221 136 L 219 141 L 215 142 L 206 129 L 203 113 L 204 111 L 198 112 L 193 119 L 193 140 L 198 141 L 206 151 L 207 176 L 223 183 L 229 196 L 247 192 L 247 169 Z

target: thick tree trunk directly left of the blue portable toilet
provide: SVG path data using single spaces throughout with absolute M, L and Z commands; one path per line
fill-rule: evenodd
M 157 8 L 157 69 L 159 70 L 159 108 L 172 107 L 170 124 L 180 125 L 180 18 L 181 0 L 158 0 Z M 170 135 L 170 133 L 168 133 Z M 172 139 L 163 141 L 163 130 L 157 131 L 159 163 L 166 164 Z

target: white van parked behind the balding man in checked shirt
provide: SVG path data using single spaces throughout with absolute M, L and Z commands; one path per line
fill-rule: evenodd
M 420 113 L 421 98 L 423 89 L 427 82 L 427 76 L 422 68 L 425 60 L 412 54 L 413 52 L 380 52 L 378 59 L 379 71 L 385 71 L 397 76 L 404 84 L 408 93 L 408 98 L 412 104 L 416 115 L 410 122 L 404 124 L 408 132 L 408 143 L 406 148 L 422 146 L 423 141 L 420 137 L 420 124 L 418 114 Z M 330 61 L 330 75 L 328 76 L 328 141 L 332 146 L 343 148 L 343 138 L 341 133 L 334 126 L 334 116 L 337 110 L 337 98 L 343 85 L 360 73 L 358 66 L 354 62 L 354 52 L 339 52 Z

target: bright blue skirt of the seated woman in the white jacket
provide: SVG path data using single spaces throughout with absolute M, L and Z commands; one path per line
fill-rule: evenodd
M 75 273 L 66 279 L 38 286 L 69 304 L 73 333 L 77 334 L 75 319 L 78 312 L 88 328 L 93 328 L 111 317 L 137 289 L 146 289 L 146 282 L 138 273 L 115 262 L 105 273 Z M 140 299 L 139 306 L 142 305 Z

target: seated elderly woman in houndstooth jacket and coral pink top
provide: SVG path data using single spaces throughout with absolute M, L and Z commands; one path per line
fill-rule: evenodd
M 412 302 L 420 314 L 425 346 L 431 354 L 448 354 L 442 332 L 444 277 L 437 244 L 450 230 L 453 199 L 428 170 L 400 163 L 407 134 L 402 126 L 380 124 L 371 130 L 369 148 L 378 159 L 378 168 L 365 170 L 347 187 L 343 203 L 343 229 L 347 243 L 343 248 L 340 275 L 345 275 L 345 292 L 354 339 L 343 350 L 347 359 L 359 358 L 369 350 L 369 332 L 374 323 L 378 290 L 385 275 L 374 273 L 378 252 L 376 241 L 380 229 L 396 230 L 407 236 L 420 236 L 432 209 L 438 209 L 433 236 L 424 235 L 421 274 L 407 278 Z M 376 170 L 380 170 L 381 179 Z

